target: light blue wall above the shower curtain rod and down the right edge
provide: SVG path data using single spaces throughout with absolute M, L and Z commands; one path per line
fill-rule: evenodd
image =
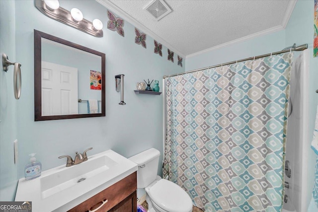
M 256 37 L 237 44 L 229 45 L 224 48 L 216 49 L 211 52 L 198 54 L 186 59 L 186 71 L 195 70 L 207 66 L 218 65 L 230 61 L 235 61 L 252 56 L 267 54 L 284 49 L 294 43 L 297 45 L 307 43 L 309 51 L 313 52 L 314 37 L 314 0 L 298 0 L 290 20 L 284 30 Z M 316 107 L 318 103 L 318 94 L 315 92 L 318 80 L 318 59 L 310 57 L 309 73 L 309 141 L 307 148 L 310 149 L 310 142 L 313 138 L 315 125 Z M 310 202 L 313 183 L 316 156 L 312 149 L 309 150 L 309 164 L 307 175 L 307 205 Z

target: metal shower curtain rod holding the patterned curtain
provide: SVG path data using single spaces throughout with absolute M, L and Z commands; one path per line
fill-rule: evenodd
M 231 64 L 235 64 L 235 63 L 239 63 L 239 62 L 243 62 L 243 61 L 255 60 L 255 59 L 258 59 L 258 58 L 263 58 L 263 57 L 267 57 L 267 56 L 271 56 L 271 55 L 278 55 L 278 54 L 282 54 L 282 53 L 290 52 L 290 51 L 304 51 L 307 48 L 308 48 L 308 44 L 303 44 L 303 45 L 300 45 L 300 46 L 297 46 L 297 47 L 292 47 L 290 49 L 282 50 L 282 51 L 279 51 L 279 52 L 273 52 L 273 53 L 269 53 L 269 54 L 265 54 L 265 55 L 259 55 L 259 56 L 255 56 L 255 57 L 245 58 L 245 59 L 242 59 L 242 60 L 232 61 L 232 62 L 228 62 L 228 63 L 224 63 L 224 64 L 219 64 L 219 65 L 216 65 L 216 66 L 209 66 L 209 67 L 205 67 L 205 68 L 201 68 L 201 69 L 195 69 L 195 70 L 185 71 L 185 72 L 181 72 L 181 73 L 174 73 L 174 74 L 170 74 L 168 76 L 163 76 L 163 78 L 167 78 L 167 77 L 170 77 L 170 76 L 182 75 L 182 74 L 185 74 L 185 73 L 191 73 L 191 72 L 195 72 L 195 71 L 203 71 L 203 70 L 206 70 L 206 69 L 212 69 L 212 68 L 216 68 L 216 67 L 220 67 L 220 66 L 227 66 L 227 65 L 231 65 Z

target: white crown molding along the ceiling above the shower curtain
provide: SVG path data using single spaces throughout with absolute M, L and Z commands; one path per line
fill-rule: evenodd
M 251 39 L 254 39 L 256 37 L 260 37 L 260 36 L 263 36 L 263 35 L 267 35 L 267 34 L 271 34 L 271 33 L 274 33 L 274 32 L 278 32 L 278 31 L 281 31 L 283 29 L 285 29 L 285 28 L 282 25 L 275 26 L 275 27 L 272 27 L 272 28 L 269 28 L 269 29 L 266 29 L 266 30 L 263 30 L 263 31 L 260 31 L 260 32 L 256 32 L 256 33 L 251 34 L 251 35 L 247 35 L 245 37 L 241 37 L 241 38 L 233 40 L 233 41 L 229 41 L 229 42 L 226 42 L 226 43 L 223 43 L 223 44 L 220 44 L 220 45 L 217 45 L 217 46 L 202 50 L 200 52 L 196 52 L 196 53 L 187 55 L 186 59 L 192 58 L 192 57 L 195 57 L 195 56 L 207 53 L 207 52 L 212 52 L 214 50 L 221 49 L 221 48 L 224 48 L 224 47 L 227 47 L 227 46 L 231 46 L 231 45 L 234 45 L 234 44 L 246 41 L 246 40 L 251 40 Z

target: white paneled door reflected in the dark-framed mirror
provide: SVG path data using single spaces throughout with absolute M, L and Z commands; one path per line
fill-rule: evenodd
M 42 61 L 42 116 L 78 114 L 78 69 Z

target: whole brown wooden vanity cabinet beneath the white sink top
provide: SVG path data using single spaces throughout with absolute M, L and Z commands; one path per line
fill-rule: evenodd
M 111 185 L 68 212 L 137 212 L 137 172 Z

